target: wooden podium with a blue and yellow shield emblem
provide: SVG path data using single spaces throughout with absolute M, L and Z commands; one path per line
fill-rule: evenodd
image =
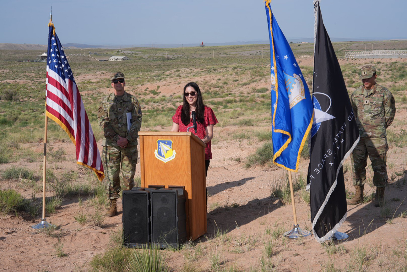
M 141 186 L 184 186 L 186 232 L 206 233 L 206 145 L 191 132 L 139 132 Z

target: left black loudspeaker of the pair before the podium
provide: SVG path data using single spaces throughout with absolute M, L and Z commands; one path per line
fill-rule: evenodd
M 123 238 L 128 248 L 145 248 L 150 243 L 150 192 L 154 189 L 146 189 L 123 191 Z

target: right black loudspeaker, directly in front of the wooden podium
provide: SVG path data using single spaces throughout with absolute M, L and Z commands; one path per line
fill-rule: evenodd
M 184 189 L 151 191 L 151 243 L 157 248 L 173 247 L 186 240 Z

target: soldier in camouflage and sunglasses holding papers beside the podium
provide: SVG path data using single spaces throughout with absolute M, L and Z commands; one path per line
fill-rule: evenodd
M 99 125 L 103 130 L 103 159 L 108 178 L 107 198 L 110 200 L 106 216 L 117 215 L 120 164 L 124 186 L 127 190 L 134 186 L 138 157 L 137 137 L 142 118 L 138 100 L 125 92 L 126 82 L 123 73 L 115 73 L 111 80 L 114 93 L 104 97 L 98 108 Z M 130 129 L 127 127 L 127 119 L 131 122 Z

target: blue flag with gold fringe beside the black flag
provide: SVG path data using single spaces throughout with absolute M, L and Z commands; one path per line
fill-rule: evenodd
M 312 126 L 312 101 L 287 39 L 265 1 L 271 55 L 273 163 L 298 171 L 300 154 Z

